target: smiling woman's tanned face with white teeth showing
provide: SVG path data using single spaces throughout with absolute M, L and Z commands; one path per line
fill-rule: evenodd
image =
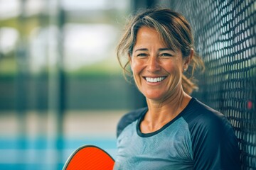
M 153 28 L 139 28 L 130 57 L 135 83 L 146 98 L 165 101 L 182 90 L 181 50 L 166 47 Z

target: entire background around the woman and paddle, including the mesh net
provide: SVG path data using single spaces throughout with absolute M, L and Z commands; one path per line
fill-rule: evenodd
M 256 169 L 254 0 L 0 0 L 0 169 L 62 169 L 81 145 L 115 158 L 116 126 L 145 106 L 115 50 L 129 15 L 183 13 L 206 62 L 193 96 L 225 114 Z

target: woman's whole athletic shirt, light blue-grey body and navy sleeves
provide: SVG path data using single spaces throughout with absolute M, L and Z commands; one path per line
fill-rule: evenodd
M 148 108 L 127 113 L 117 125 L 114 170 L 240 169 L 240 151 L 227 118 L 196 98 L 161 129 L 142 133 Z

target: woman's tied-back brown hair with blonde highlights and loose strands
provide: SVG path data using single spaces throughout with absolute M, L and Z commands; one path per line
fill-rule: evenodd
M 183 60 L 189 57 L 191 49 L 194 49 L 192 29 L 186 18 L 180 13 L 172 11 L 169 8 L 151 8 L 146 11 L 137 13 L 124 29 L 124 34 L 117 45 L 117 58 L 119 64 L 124 70 L 124 74 L 131 75 L 127 66 L 132 56 L 132 50 L 137 40 L 137 32 L 142 26 L 154 28 L 160 35 L 161 40 L 171 50 L 181 50 Z M 123 58 L 126 58 L 123 64 Z M 182 86 L 186 93 L 191 94 L 198 86 L 193 82 L 191 77 L 196 67 L 204 69 L 203 61 L 196 52 L 193 52 L 193 57 L 190 62 L 190 67 L 186 75 L 182 75 Z

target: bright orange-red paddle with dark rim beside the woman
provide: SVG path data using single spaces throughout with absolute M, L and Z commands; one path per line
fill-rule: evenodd
M 84 145 L 70 155 L 63 170 L 112 170 L 114 159 L 100 147 Z

